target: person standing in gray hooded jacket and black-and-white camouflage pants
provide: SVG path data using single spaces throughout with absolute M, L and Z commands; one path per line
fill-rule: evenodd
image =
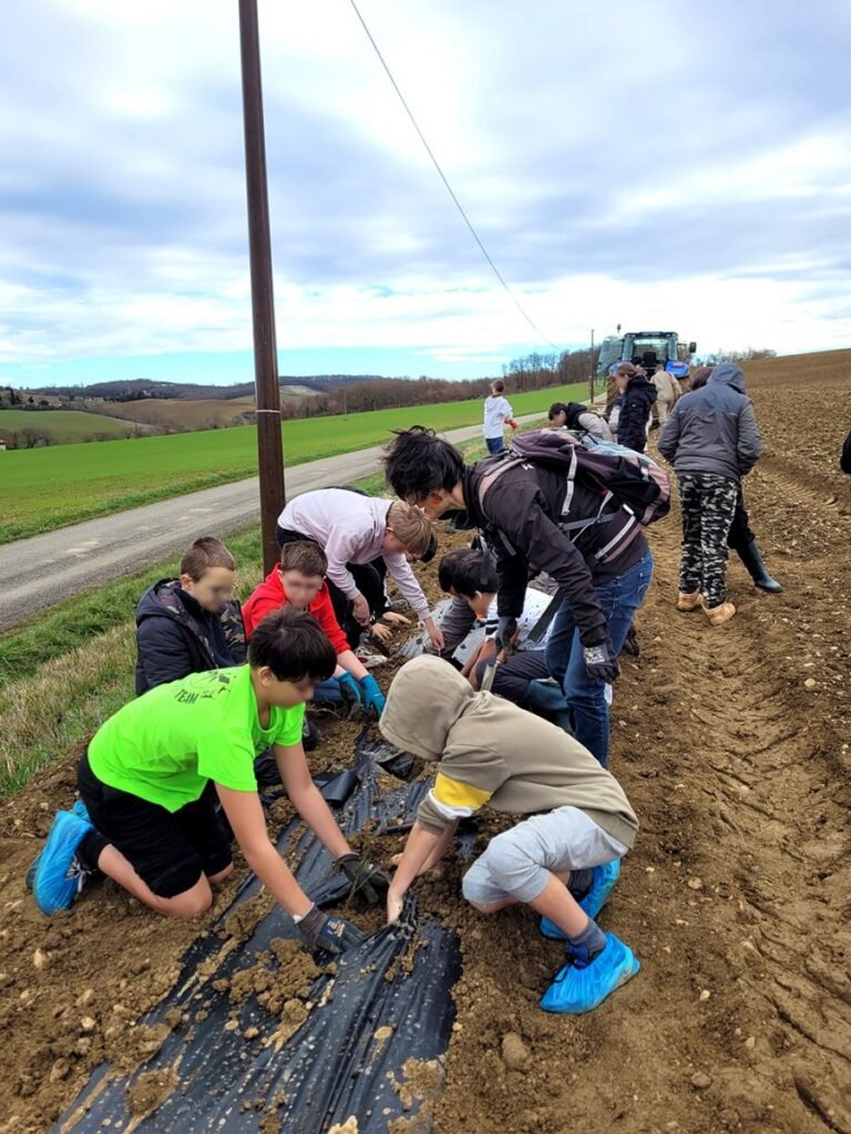
M 742 477 L 762 438 L 739 366 L 716 366 L 706 386 L 682 397 L 659 437 L 676 471 L 683 517 L 677 610 L 703 608 L 719 626 L 735 613 L 726 599 L 727 536 Z

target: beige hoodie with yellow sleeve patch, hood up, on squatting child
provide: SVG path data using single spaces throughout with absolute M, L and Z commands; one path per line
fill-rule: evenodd
M 430 835 L 473 814 L 531 815 L 579 807 L 631 847 L 638 820 L 623 788 L 563 729 L 491 693 L 474 693 L 439 658 L 415 658 L 393 679 L 379 728 L 421 760 L 437 763 L 416 822 Z

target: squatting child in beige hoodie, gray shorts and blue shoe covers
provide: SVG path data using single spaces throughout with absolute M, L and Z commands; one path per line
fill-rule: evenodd
M 531 818 L 490 840 L 464 875 L 464 897 L 486 914 L 526 903 L 542 915 L 544 936 L 566 942 L 567 964 L 541 1007 L 589 1012 L 635 975 L 632 950 L 595 917 L 638 820 L 590 752 L 516 705 L 474 693 L 439 658 L 399 670 L 379 727 L 391 744 L 438 764 L 387 894 L 388 921 L 414 879 L 439 862 L 458 821 L 487 804 Z

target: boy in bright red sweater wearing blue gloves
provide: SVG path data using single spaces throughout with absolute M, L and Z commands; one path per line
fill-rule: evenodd
M 328 560 L 318 543 L 311 540 L 285 543 L 280 552 L 280 565 L 269 573 L 243 606 L 245 637 L 251 641 L 258 624 L 281 607 L 309 611 L 337 654 L 335 675 L 317 686 L 315 700 L 322 701 L 323 694 L 330 694 L 332 700 L 354 697 L 368 713 L 374 712 L 380 717 L 385 710 L 384 693 L 376 678 L 355 657 L 337 621 L 325 582 L 327 569 Z

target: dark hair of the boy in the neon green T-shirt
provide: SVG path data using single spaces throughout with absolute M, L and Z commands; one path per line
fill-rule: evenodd
M 337 654 L 312 615 L 281 607 L 259 624 L 248 645 L 248 665 L 268 666 L 279 682 L 325 682 L 337 668 Z

